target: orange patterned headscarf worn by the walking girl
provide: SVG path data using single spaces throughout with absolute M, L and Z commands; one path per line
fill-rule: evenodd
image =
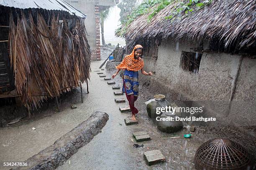
M 127 69 L 128 71 L 138 71 L 144 66 L 143 60 L 134 59 L 134 51 L 137 48 L 143 48 L 141 45 L 135 45 L 133 52 L 130 55 L 126 55 L 123 61 L 116 66 L 117 69 Z

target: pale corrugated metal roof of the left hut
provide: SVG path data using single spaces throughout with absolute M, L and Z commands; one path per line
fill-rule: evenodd
M 69 5 L 64 0 L 0 0 L 0 5 L 5 7 L 15 7 L 20 9 L 44 9 L 44 10 L 60 10 L 76 15 L 80 18 L 86 18 L 86 15 Z

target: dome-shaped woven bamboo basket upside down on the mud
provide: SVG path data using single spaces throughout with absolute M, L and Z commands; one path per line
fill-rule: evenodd
M 203 143 L 195 154 L 197 170 L 253 170 L 250 153 L 239 143 L 212 139 Z

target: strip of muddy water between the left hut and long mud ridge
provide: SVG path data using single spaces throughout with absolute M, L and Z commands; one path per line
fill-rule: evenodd
M 87 102 L 87 105 L 95 105 L 91 100 Z M 23 125 L 0 128 L 0 160 L 2 162 L 24 161 L 52 145 L 80 122 L 87 120 L 94 109 L 87 108 L 85 111 L 84 107 L 87 106 L 85 105 L 85 103 L 78 103 L 76 110 L 69 108 Z M 0 169 L 3 168 L 1 166 Z

